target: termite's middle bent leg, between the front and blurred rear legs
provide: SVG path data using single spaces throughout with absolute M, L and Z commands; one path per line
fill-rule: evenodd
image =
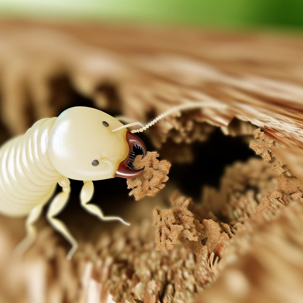
M 63 178 L 58 184 L 62 186 L 62 192 L 58 193 L 49 205 L 47 219 L 55 230 L 57 230 L 71 245 L 72 248 L 67 254 L 67 259 L 70 260 L 78 248 L 76 239 L 72 236 L 66 225 L 57 218 L 58 215 L 68 202 L 69 193 L 71 191 L 70 181 L 68 178 Z

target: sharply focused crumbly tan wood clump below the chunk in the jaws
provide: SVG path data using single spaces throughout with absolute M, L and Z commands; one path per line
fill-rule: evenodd
M 220 256 L 229 236 L 220 224 L 214 221 L 217 220 L 215 216 L 198 209 L 191 198 L 185 198 L 178 192 L 172 196 L 171 202 L 172 209 L 160 211 L 156 208 L 154 211 L 158 250 L 171 249 L 180 241 L 201 255 L 207 263 L 212 253 Z M 199 221 L 198 218 L 203 219 Z

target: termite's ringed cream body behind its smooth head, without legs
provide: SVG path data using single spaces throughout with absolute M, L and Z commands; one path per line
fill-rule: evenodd
M 46 203 L 63 176 L 47 154 L 48 135 L 57 118 L 37 121 L 24 135 L 0 148 L 0 213 L 25 216 Z

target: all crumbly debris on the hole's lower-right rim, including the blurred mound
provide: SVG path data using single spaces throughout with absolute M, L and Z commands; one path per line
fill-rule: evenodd
M 279 145 L 260 128 L 255 130 L 255 138 L 257 141 L 251 142 L 250 147 L 270 165 L 259 159 L 235 163 L 225 171 L 219 191 L 208 188 L 204 193 L 200 208 L 190 198 L 176 193 L 171 198 L 171 209 L 155 209 L 159 250 L 170 249 L 180 241 L 211 267 L 210 261 L 224 255 L 229 238 L 249 218 L 262 210 L 288 205 L 294 199 L 303 202 L 302 182 L 271 150 Z

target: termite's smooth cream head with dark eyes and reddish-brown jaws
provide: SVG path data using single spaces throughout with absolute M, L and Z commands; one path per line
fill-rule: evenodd
M 62 112 L 48 138 L 48 156 L 63 176 L 94 181 L 113 177 L 133 178 L 143 171 L 132 166 L 136 155 L 146 154 L 143 141 L 105 112 L 72 107 Z

